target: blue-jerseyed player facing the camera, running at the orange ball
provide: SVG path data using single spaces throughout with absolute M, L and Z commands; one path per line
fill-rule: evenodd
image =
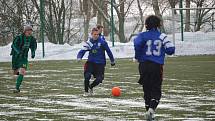
M 83 49 L 77 55 L 77 59 L 81 60 L 84 54 L 89 51 L 88 60 L 84 65 L 84 89 L 85 96 L 92 95 L 93 88 L 104 80 L 104 71 L 106 65 L 105 51 L 107 52 L 111 66 L 115 65 L 113 54 L 107 42 L 99 37 L 97 28 L 93 28 L 91 32 L 92 37 L 85 42 Z M 89 84 L 91 76 L 95 77 L 92 84 Z M 90 92 L 88 92 L 90 89 Z

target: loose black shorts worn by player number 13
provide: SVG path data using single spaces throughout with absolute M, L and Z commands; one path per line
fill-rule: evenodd
M 139 84 L 143 85 L 157 85 L 161 86 L 163 81 L 163 65 L 152 62 L 145 61 L 139 64 L 140 79 Z

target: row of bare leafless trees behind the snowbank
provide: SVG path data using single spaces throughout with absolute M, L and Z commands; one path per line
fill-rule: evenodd
M 115 36 L 120 42 L 128 42 L 144 29 L 146 15 L 155 14 L 164 19 L 171 8 L 178 8 L 180 0 L 112 0 Z M 184 8 L 214 7 L 215 0 L 182 0 Z M 39 38 L 40 0 L 0 0 L 0 45 L 6 45 L 22 32 L 24 24 L 32 24 Z M 74 44 L 88 38 L 92 23 L 104 26 L 104 35 L 110 33 L 111 0 L 44 0 L 45 37 L 54 44 Z M 151 11 L 150 11 L 151 10 Z M 205 17 L 211 9 L 185 11 L 185 31 L 199 31 L 214 16 Z M 174 11 L 179 15 L 179 11 Z M 132 25 L 126 25 L 132 21 Z M 214 21 L 214 20 L 213 20 Z M 163 21 L 164 22 L 164 21 Z M 194 29 L 192 29 L 194 28 Z M 165 31 L 163 26 L 162 31 Z M 38 39 L 39 40 L 39 39 Z

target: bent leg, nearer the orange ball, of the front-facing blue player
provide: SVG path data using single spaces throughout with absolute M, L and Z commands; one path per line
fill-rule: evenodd
M 105 65 L 104 64 L 95 64 L 94 65 L 94 76 L 95 80 L 93 83 L 90 85 L 90 89 L 93 89 L 95 86 L 99 85 L 102 83 L 104 80 L 104 71 L 105 71 Z

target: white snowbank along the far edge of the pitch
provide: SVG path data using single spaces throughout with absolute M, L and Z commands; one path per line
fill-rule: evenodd
M 180 39 L 181 35 L 176 34 L 175 55 L 204 55 L 215 54 L 215 32 L 188 32 L 184 33 L 184 41 Z M 169 35 L 172 39 L 172 35 Z M 112 43 L 108 42 L 111 47 Z M 42 44 L 38 43 L 36 51 L 36 60 L 70 60 L 76 59 L 76 55 L 83 43 L 70 46 L 68 44 L 55 45 L 45 43 L 45 58 L 42 57 Z M 134 57 L 133 42 L 119 43 L 115 42 L 115 46 L 111 47 L 115 58 L 132 58 Z M 0 62 L 11 61 L 10 56 L 11 44 L 0 47 Z M 85 58 L 87 54 L 85 55 Z

